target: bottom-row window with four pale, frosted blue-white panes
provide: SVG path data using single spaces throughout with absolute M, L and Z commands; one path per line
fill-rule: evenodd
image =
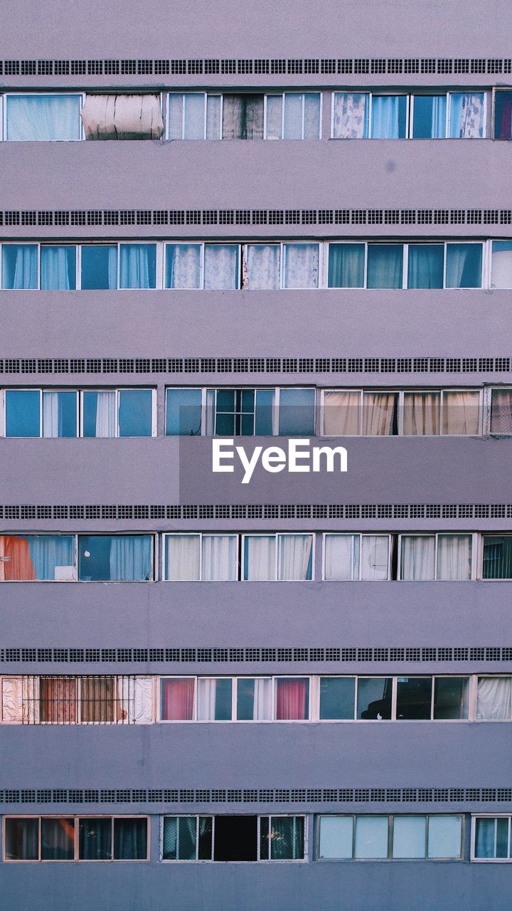
M 319 860 L 458 860 L 461 856 L 460 815 L 319 817 Z

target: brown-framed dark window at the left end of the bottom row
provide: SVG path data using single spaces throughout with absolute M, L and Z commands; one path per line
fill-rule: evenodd
M 148 816 L 7 816 L 4 860 L 148 860 Z

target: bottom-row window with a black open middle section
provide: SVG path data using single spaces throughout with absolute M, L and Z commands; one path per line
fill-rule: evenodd
M 304 859 L 303 816 L 164 816 L 163 861 Z

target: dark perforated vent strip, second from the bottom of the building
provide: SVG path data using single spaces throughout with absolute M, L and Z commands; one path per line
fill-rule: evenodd
M 0 649 L 0 661 L 43 662 L 57 664 L 92 662 L 112 663 L 188 663 L 266 661 L 511 661 L 512 646 L 291 646 L 237 648 L 9 648 Z

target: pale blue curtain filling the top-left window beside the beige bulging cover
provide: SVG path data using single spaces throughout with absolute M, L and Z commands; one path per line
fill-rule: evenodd
M 7 139 L 79 139 L 79 95 L 9 95 Z

